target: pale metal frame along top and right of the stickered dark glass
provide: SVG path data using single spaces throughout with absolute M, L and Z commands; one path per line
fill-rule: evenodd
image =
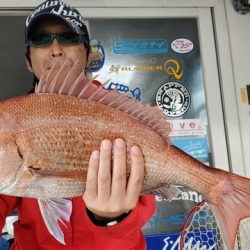
M 41 2 L 43 1 L 4 1 L 0 3 L 0 14 L 14 12 L 26 15 L 27 11 Z M 235 173 L 246 174 L 224 0 L 65 0 L 65 2 L 79 8 L 86 19 L 176 17 L 183 8 L 186 17 L 196 16 L 199 20 L 203 65 L 206 65 L 203 67 L 203 74 L 209 82 L 205 84 L 206 98 L 213 100 L 207 102 L 207 105 L 214 162 L 218 168 L 226 170 L 230 168 Z M 211 18 L 213 22 L 208 21 Z M 207 43 L 206 39 L 213 37 L 213 34 L 212 36 L 209 34 L 212 30 L 215 40 Z M 216 71 L 219 70 L 218 74 L 214 74 L 214 67 Z

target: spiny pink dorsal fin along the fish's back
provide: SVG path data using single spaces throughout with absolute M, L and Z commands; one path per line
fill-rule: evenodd
M 105 89 L 104 86 L 109 81 L 102 80 L 100 76 L 87 79 L 85 72 L 79 72 L 77 63 L 71 66 L 68 61 L 56 62 L 49 72 L 42 75 L 35 93 L 57 93 L 102 103 L 128 113 L 168 138 L 170 125 L 158 107 L 138 102 L 116 90 Z

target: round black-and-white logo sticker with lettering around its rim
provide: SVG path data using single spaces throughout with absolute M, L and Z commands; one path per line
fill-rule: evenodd
M 187 112 L 191 104 L 188 90 L 180 83 L 167 82 L 156 93 L 156 104 L 164 114 L 178 117 Z

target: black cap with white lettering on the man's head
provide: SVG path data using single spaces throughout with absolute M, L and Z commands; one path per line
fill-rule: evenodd
M 66 23 L 76 34 L 83 35 L 86 44 L 89 44 L 89 34 L 83 18 L 78 10 L 65 4 L 62 1 L 47 0 L 35 8 L 26 18 L 25 43 L 30 38 L 32 26 L 39 23 L 39 20 L 58 18 Z

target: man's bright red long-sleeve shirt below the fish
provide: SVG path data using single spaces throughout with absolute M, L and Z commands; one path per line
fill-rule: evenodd
M 141 227 L 155 211 L 153 195 L 141 196 L 135 209 L 113 226 L 96 226 L 89 219 L 82 197 L 72 199 L 73 210 L 67 228 L 61 225 L 65 243 L 62 245 L 47 230 L 38 202 L 33 198 L 0 195 L 0 229 L 5 218 L 17 209 L 14 223 L 15 242 L 11 250 L 128 250 L 146 249 Z

